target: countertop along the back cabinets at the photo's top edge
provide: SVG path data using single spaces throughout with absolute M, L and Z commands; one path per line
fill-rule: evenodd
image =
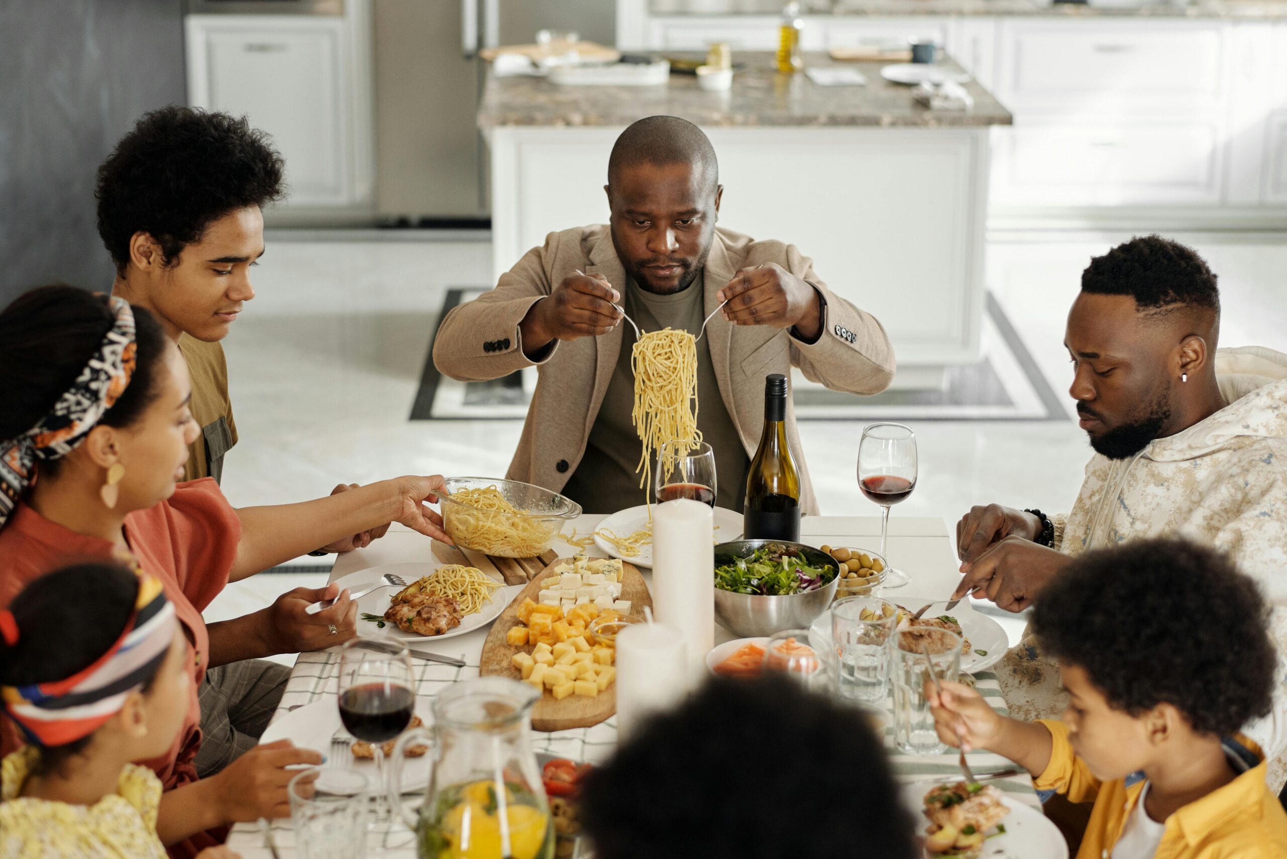
M 1093 0 L 1094 1 L 1094 0 Z M 1050 0 L 826 0 L 804 4 L 802 14 L 826 17 L 1046 15 L 1051 18 L 1287 18 L 1287 0 L 1192 0 L 1107 5 L 1054 4 Z M 780 15 L 780 0 L 653 0 L 653 15 Z

